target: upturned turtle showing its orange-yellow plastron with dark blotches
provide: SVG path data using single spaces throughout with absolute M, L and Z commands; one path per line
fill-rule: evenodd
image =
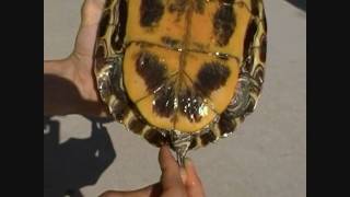
M 262 0 L 106 0 L 96 85 L 117 121 L 182 165 L 255 111 L 266 48 Z

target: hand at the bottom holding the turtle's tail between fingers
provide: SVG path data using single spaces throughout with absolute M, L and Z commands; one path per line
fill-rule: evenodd
M 190 160 L 185 167 L 178 166 L 167 147 L 162 147 L 159 154 L 162 170 L 161 181 L 156 184 L 131 192 L 108 190 L 100 197 L 203 197 L 205 190 L 196 169 Z

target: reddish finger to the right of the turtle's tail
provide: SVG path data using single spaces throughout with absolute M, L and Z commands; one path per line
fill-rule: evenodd
M 185 171 L 187 174 L 186 177 L 186 189 L 189 197 L 203 197 L 205 190 L 201 184 L 201 181 L 198 176 L 196 167 L 191 160 L 185 160 Z

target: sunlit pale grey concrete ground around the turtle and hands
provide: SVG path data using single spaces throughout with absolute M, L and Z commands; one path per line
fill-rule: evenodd
M 45 0 L 44 57 L 72 49 L 82 0 Z M 189 153 L 208 196 L 306 196 L 306 12 L 266 0 L 268 61 L 257 111 L 237 129 Z M 160 176 L 158 150 L 117 123 L 44 118 L 44 196 L 97 196 Z

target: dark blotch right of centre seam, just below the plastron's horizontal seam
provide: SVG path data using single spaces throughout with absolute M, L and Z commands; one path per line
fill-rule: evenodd
M 226 83 L 230 73 L 230 69 L 220 62 L 206 62 L 197 74 L 195 86 L 208 96 Z

